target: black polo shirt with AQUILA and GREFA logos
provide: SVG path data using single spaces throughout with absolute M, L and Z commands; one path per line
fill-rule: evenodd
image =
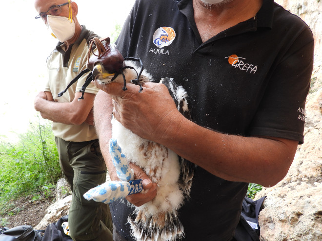
M 191 0 L 137 0 L 117 40 L 122 55 L 141 58 L 155 81 L 173 77 L 183 86 L 197 124 L 300 144 L 313 45 L 308 26 L 273 0 L 263 0 L 254 18 L 204 43 Z M 246 183 L 198 167 L 191 199 L 179 210 L 183 240 L 230 240 L 246 190 Z M 124 209 L 126 204 L 111 205 L 118 231 L 129 236 Z

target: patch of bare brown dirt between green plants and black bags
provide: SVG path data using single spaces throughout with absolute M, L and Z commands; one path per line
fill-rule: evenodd
M 0 228 L 12 228 L 19 225 L 35 227 L 46 214 L 46 209 L 54 203 L 54 197 L 40 198 L 32 201 L 32 196 L 13 201 L 13 208 L 7 216 L 0 216 Z

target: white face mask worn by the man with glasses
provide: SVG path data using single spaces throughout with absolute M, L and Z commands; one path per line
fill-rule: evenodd
M 75 34 L 75 22 L 66 17 L 48 15 L 47 26 L 60 42 L 71 39 Z

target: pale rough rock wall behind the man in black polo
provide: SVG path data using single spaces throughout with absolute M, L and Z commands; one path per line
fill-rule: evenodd
M 314 70 L 306 101 L 304 144 L 286 177 L 263 188 L 261 241 L 322 241 L 322 1 L 276 0 L 301 17 L 315 38 Z

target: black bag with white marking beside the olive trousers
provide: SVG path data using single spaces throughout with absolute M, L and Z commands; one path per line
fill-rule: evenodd
M 49 223 L 45 233 L 42 237 L 42 241 L 72 241 L 72 238 L 68 235 L 68 215 L 60 218 L 57 222 Z M 64 228 L 66 233 L 64 232 Z

